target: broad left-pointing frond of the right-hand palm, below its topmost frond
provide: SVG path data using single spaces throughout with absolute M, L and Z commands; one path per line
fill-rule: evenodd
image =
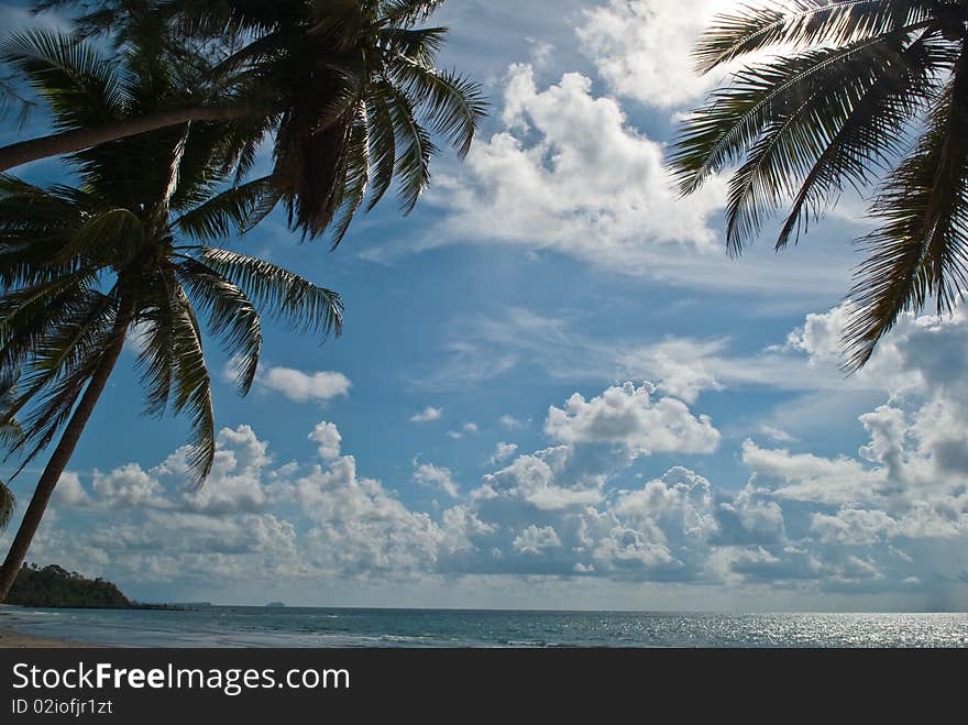
M 931 77 L 936 66 L 931 62 L 935 56 L 902 55 L 906 37 L 905 33 L 894 33 L 750 66 L 737 73 L 733 86 L 715 94 L 711 103 L 686 122 L 669 157 L 684 194 L 746 155 L 730 179 L 730 252 L 739 253 L 759 232 L 762 218 L 799 188 L 802 190 L 811 169 L 836 144 L 855 109 L 870 98 L 879 83 L 899 75 L 909 61 L 922 62 L 908 72 L 925 80 L 908 89 L 906 108 L 913 110 L 925 101 L 933 89 Z M 905 105 L 895 107 L 904 109 Z M 876 116 L 883 109 L 873 111 Z M 893 142 L 904 129 L 891 131 L 878 138 Z M 864 150 L 868 162 L 865 166 L 892 150 L 888 145 L 871 155 L 868 146 Z

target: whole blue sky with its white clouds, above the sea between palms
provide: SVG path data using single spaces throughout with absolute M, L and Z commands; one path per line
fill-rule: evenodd
M 690 45 L 732 3 L 451 4 L 446 63 L 493 101 L 466 162 L 336 253 L 278 217 L 232 242 L 339 290 L 344 336 L 271 329 L 246 399 L 210 345 L 223 430 L 200 493 L 184 421 L 139 416 L 125 353 L 30 558 L 150 601 L 968 605 L 968 316 L 906 317 L 845 378 L 864 200 L 732 261 L 725 179 L 679 199 L 663 171 L 714 81 Z

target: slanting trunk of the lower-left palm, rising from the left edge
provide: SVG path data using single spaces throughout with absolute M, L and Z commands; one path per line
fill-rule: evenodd
M 100 398 L 108 378 L 111 376 L 111 371 L 114 370 L 118 358 L 121 355 L 128 326 L 131 323 L 132 311 L 131 306 L 127 305 L 119 310 L 118 319 L 114 322 L 113 340 L 105 351 L 101 362 L 95 369 L 90 383 L 88 383 L 80 403 L 70 417 L 70 422 L 64 429 L 61 442 L 54 449 L 54 454 L 51 455 L 47 468 L 44 469 L 44 473 L 37 482 L 33 498 L 31 498 L 26 513 L 23 515 L 23 520 L 20 523 L 20 528 L 16 530 L 13 543 L 10 545 L 10 551 L 7 553 L 3 568 L 0 569 L 0 603 L 7 600 L 10 589 L 20 573 L 20 568 L 26 558 L 26 552 L 34 538 L 34 534 L 36 534 L 37 527 L 41 525 L 41 518 L 44 516 L 44 510 L 47 508 L 47 502 L 51 501 L 54 487 L 61 480 L 64 469 L 67 468 L 67 462 L 77 447 L 77 441 L 80 440 L 80 433 L 84 431 L 84 427 L 87 425 L 95 405 L 97 405 L 98 398 Z

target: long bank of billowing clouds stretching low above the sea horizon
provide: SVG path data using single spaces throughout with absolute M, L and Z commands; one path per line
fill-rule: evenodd
M 787 354 L 836 367 L 825 340 L 842 312 L 811 318 Z M 476 483 L 458 486 L 453 471 L 415 461 L 413 481 L 451 499 L 430 513 L 361 475 L 333 424 L 309 435 L 318 457 L 284 465 L 240 426 L 220 431 L 200 491 L 185 449 L 152 469 L 65 475 L 55 503 L 73 505 L 75 524 L 45 523 L 37 551 L 169 584 L 502 574 L 957 592 L 968 556 L 968 378 L 950 360 L 966 344 L 963 311 L 904 317 L 872 361 L 886 402 L 860 417 L 865 443 L 831 457 L 747 440 L 738 490 L 683 465 L 642 475 L 647 453 L 701 454 L 719 439 L 684 402 L 625 385 L 552 406 L 554 444 L 504 443 Z

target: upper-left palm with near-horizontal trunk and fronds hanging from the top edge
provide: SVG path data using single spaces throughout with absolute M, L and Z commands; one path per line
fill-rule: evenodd
M 42 7 L 75 6 L 50 0 Z M 433 135 L 461 157 L 484 117 L 481 88 L 436 68 L 446 28 L 418 29 L 442 0 L 102 0 L 77 18 L 79 33 L 111 33 L 119 46 L 153 35 L 191 92 L 151 113 L 58 128 L 0 149 L 0 171 L 131 134 L 218 121 L 251 162 L 273 135 L 273 182 L 293 228 L 333 245 L 364 204 L 394 180 L 405 212 L 430 180 Z M 36 34 L 34 34 L 36 36 Z M 50 34 L 48 34 L 50 35 Z M 63 42 L 63 39 L 62 41 Z M 14 36 L 3 58 L 44 92 L 51 58 Z M 8 94 L 8 101 L 12 100 Z

